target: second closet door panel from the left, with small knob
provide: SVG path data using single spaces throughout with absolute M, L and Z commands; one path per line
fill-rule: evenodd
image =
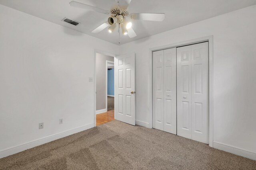
M 164 131 L 176 132 L 176 48 L 164 50 Z

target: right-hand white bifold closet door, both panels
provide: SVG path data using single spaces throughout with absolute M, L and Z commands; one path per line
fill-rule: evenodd
M 208 42 L 177 48 L 177 135 L 209 143 Z

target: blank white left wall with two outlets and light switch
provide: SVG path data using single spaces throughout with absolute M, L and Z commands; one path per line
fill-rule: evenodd
M 0 153 L 94 126 L 94 49 L 118 46 L 2 5 L 0 20 Z

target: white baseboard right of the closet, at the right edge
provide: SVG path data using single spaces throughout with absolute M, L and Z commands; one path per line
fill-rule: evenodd
M 234 147 L 232 145 L 227 145 L 227 144 L 216 142 L 216 141 L 213 141 L 213 147 L 216 149 L 224 150 L 226 152 L 230 152 L 232 154 L 236 154 L 252 160 L 256 160 L 256 153 L 250 150 Z

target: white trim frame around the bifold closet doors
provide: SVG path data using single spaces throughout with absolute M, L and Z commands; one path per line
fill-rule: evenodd
M 192 45 L 196 43 L 202 43 L 208 41 L 209 46 L 209 146 L 213 147 L 213 131 L 214 131 L 214 96 L 213 96 L 213 90 L 214 90 L 214 77 L 213 77 L 213 35 L 207 36 L 207 37 L 201 37 L 198 39 L 192 39 L 188 41 L 183 41 L 180 43 L 174 43 L 169 45 L 163 45 L 160 47 L 154 47 L 149 49 L 149 58 L 150 58 L 150 83 L 149 83 L 149 97 L 150 100 L 148 102 L 149 106 L 149 128 L 153 128 L 153 51 L 159 51 L 164 49 L 170 49 L 174 47 L 182 47 L 185 45 Z

